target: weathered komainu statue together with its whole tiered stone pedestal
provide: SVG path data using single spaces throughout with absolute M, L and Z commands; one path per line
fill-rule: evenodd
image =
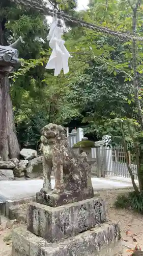
M 43 188 L 28 206 L 27 228 L 13 231 L 12 256 L 116 255 L 120 227 L 105 223 L 105 202 L 94 197 L 87 154 L 72 155 L 61 125 L 45 125 L 41 142 Z M 55 186 L 47 194 L 52 169 Z

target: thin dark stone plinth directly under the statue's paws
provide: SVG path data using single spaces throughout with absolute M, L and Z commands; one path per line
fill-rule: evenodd
M 36 194 L 36 202 L 51 207 L 57 207 L 65 204 L 82 201 L 92 197 L 94 197 L 94 191 L 93 189 L 90 188 L 84 189 L 81 192 L 66 191 L 63 194 L 53 194 L 52 191 L 48 194 L 38 192 Z

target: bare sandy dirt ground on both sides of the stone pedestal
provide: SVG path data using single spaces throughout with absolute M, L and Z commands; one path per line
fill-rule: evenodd
M 127 252 L 128 248 L 134 248 L 137 243 L 143 250 L 143 218 L 132 211 L 117 210 L 113 207 L 113 202 L 121 193 L 123 193 L 123 190 L 100 191 L 100 197 L 104 198 L 107 202 L 108 220 L 120 222 L 122 242 L 124 244 L 122 255 L 128 256 L 131 254 L 131 252 Z M 11 256 L 12 229 L 19 225 L 23 224 L 14 224 L 4 230 L 0 228 L 0 256 Z

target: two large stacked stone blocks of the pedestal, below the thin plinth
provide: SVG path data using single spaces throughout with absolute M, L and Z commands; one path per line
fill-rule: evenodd
M 13 231 L 12 256 L 113 256 L 122 251 L 120 226 L 105 222 L 96 197 L 59 207 L 32 202 L 27 228 Z

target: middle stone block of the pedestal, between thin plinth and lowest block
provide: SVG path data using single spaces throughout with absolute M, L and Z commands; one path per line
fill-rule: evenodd
M 33 202 L 27 211 L 27 229 L 51 243 L 75 236 L 105 221 L 105 202 L 98 198 L 56 208 Z

